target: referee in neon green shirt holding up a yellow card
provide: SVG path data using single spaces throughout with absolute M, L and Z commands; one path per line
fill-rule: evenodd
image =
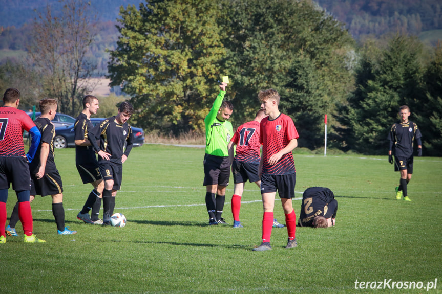
M 220 84 L 212 109 L 204 119 L 206 128 L 206 150 L 204 155 L 204 186 L 206 186 L 206 207 L 209 225 L 222 223 L 225 190 L 230 177 L 230 161 L 227 144 L 233 136 L 233 128 L 227 120 L 233 112 L 233 105 L 224 100 L 227 83 Z

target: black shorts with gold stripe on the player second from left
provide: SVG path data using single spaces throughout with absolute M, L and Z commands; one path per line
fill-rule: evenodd
M 55 165 L 46 165 L 43 178 L 37 179 L 34 172 L 35 170 L 31 173 L 30 195 L 41 195 L 41 197 L 44 197 L 63 193 L 63 183 Z

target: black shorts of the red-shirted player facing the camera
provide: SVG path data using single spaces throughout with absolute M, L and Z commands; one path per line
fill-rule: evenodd
M 296 185 L 296 172 L 290 174 L 262 174 L 261 194 L 278 191 L 280 198 L 294 198 L 294 186 Z

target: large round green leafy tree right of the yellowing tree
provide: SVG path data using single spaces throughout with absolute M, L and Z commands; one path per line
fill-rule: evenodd
M 334 102 L 351 88 L 350 35 L 311 1 L 232 1 L 231 9 L 224 24 L 225 64 L 234 81 L 237 113 L 251 117 L 259 107 L 258 91 L 276 88 L 281 110 L 297 125 L 308 126 L 299 129 L 300 146 L 317 147 L 323 142 L 318 117 L 331 114 Z M 307 96 L 309 102 L 298 103 Z

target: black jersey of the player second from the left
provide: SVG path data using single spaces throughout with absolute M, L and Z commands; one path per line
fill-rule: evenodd
M 46 165 L 49 166 L 51 164 L 55 165 L 54 162 L 54 140 L 55 137 L 55 126 L 51 123 L 51 120 L 48 118 L 37 118 L 34 121 L 38 130 L 41 133 L 40 144 L 38 144 L 37 152 L 35 153 L 34 160 L 29 164 L 29 169 L 31 171 L 37 169 L 40 166 L 40 152 L 41 152 L 41 144 L 48 143 L 49 144 L 49 154 L 48 159 L 46 160 Z

